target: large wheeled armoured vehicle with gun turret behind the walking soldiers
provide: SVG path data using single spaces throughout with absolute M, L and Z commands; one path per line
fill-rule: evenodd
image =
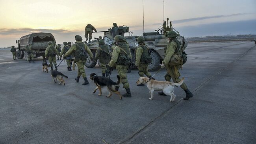
M 148 45 L 149 49 L 151 50 L 151 57 L 152 57 L 152 63 L 148 65 L 149 71 L 155 71 L 160 68 L 160 64 L 164 59 L 164 48 L 167 47 L 168 44 L 168 38 L 164 36 L 164 34 L 168 31 L 174 30 L 176 31 L 172 25 L 171 22 L 163 22 L 163 25 L 161 25 L 155 32 L 144 32 L 143 36 L 145 38 L 145 43 Z M 167 26 L 166 26 L 167 23 Z M 169 26 L 170 23 L 170 26 Z M 112 28 L 113 29 L 113 28 Z M 115 35 L 120 34 L 124 36 L 125 33 L 130 33 L 129 36 L 124 36 L 126 38 L 126 41 L 128 42 L 132 54 L 133 62 L 135 62 L 135 50 L 138 47 L 138 43 L 136 41 L 136 38 L 138 36 L 132 36 L 132 32 L 129 32 L 129 27 L 127 26 L 121 26 L 119 27 L 117 32 L 111 31 L 112 29 L 109 29 L 108 31 L 101 31 L 104 32 L 103 40 L 106 44 L 111 45 L 113 42 L 113 38 Z M 179 32 L 177 31 L 179 34 Z M 187 47 L 187 41 L 185 41 L 184 37 L 179 34 L 178 40 L 182 43 L 182 48 L 185 49 Z M 93 52 L 93 55 L 96 55 L 96 49 L 98 47 L 98 38 L 95 38 L 93 41 L 89 41 L 87 43 L 87 46 L 91 51 Z M 96 62 L 90 61 L 89 59 L 85 63 L 86 67 L 93 68 L 95 67 Z M 100 63 L 99 63 L 100 65 Z M 134 69 L 135 66 L 132 66 L 131 69 Z

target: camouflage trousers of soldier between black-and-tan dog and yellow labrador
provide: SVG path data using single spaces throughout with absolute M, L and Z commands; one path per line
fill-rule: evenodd
M 130 88 L 130 85 L 127 80 L 126 72 L 129 66 L 126 65 L 116 65 L 115 68 L 117 69 L 118 75 L 121 77 L 121 81 L 123 84 L 123 88 L 127 89 Z

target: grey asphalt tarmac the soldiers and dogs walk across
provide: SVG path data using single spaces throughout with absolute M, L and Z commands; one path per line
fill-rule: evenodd
M 135 84 L 137 70 L 128 74 L 131 98 L 107 98 L 106 89 L 93 94 L 91 80 L 75 82 L 77 67 L 69 72 L 63 61 L 58 70 L 69 78 L 58 85 L 43 72 L 42 58 L 13 61 L 1 49 L 0 144 L 255 144 L 254 42 L 189 43 L 186 53 L 180 73 L 194 97 L 184 101 L 178 87 L 170 103 L 157 92 L 148 100 L 147 87 Z M 101 75 L 98 66 L 85 72 Z M 155 78 L 164 81 L 165 73 Z

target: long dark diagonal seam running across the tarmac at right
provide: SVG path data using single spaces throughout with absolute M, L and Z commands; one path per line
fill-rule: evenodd
M 243 53 L 241 56 L 239 56 L 237 59 L 235 59 L 234 61 L 232 61 L 231 63 L 228 63 L 228 65 L 226 67 L 224 67 L 223 69 L 221 69 L 219 72 L 215 73 L 213 76 L 211 76 L 208 80 L 204 81 L 201 85 L 199 85 L 194 91 L 193 93 L 195 93 L 197 90 L 199 90 L 203 85 L 205 85 L 208 81 L 210 81 L 213 77 L 217 76 L 218 74 L 221 74 L 221 72 L 223 72 L 224 70 L 226 70 L 228 67 L 230 67 L 230 65 L 232 65 L 234 62 L 236 62 L 237 60 L 239 60 L 241 57 L 243 57 L 245 54 L 247 54 L 252 48 L 254 48 L 256 46 L 251 47 L 250 49 L 248 49 L 245 53 Z M 223 48 L 223 47 L 221 47 Z M 183 98 L 182 98 L 183 99 Z M 155 122 L 156 120 L 160 119 L 161 117 L 163 117 L 165 114 L 167 114 L 168 112 L 170 112 L 172 110 L 172 108 L 174 106 L 176 106 L 177 104 L 179 104 L 182 99 L 178 100 L 177 103 L 175 103 L 173 106 L 171 106 L 170 108 L 168 108 L 167 110 L 165 110 L 163 113 L 161 113 L 158 117 L 152 119 L 150 122 L 148 122 L 147 125 L 143 126 L 142 128 L 140 128 L 139 130 L 135 131 L 134 133 L 132 133 L 130 136 L 124 138 L 123 140 L 121 140 L 119 142 L 119 144 L 124 144 L 128 141 L 130 141 L 132 138 L 134 138 L 136 135 L 138 135 L 140 132 L 144 131 L 145 129 L 149 128 L 153 122 Z M 116 141 L 117 142 L 117 141 Z M 115 143 L 116 143 L 115 142 Z

